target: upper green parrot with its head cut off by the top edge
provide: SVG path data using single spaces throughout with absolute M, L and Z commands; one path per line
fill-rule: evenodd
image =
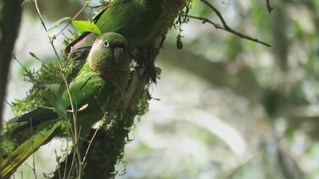
M 128 48 L 147 46 L 174 23 L 186 0 L 114 0 L 93 21 L 101 32 L 117 32 Z M 92 45 L 97 35 L 85 32 L 71 42 L 64 54 Z

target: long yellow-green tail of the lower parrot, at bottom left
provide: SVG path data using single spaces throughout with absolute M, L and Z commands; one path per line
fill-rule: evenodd
M 0 164 L 0 176 L 8 177 L 29 157 L 31 156 L 47 139 L 52 137 L 52 133 L 62 125 L 63 121 L 44 121 L 39 124 L 32 136 L 15 149 Z

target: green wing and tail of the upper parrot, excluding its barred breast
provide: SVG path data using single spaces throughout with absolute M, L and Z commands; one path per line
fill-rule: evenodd
M 160 18 L 160 4 L 163 0 L 114 0 L 112 7 L 97 15 L 96 25 L 102 33 L 117 32 L 128 41 L 128 48 L 143 46 L 158 31 L 156 23 Z M 92 45 L 98 35 L 84 33 L 64 50 L 70 53 Z

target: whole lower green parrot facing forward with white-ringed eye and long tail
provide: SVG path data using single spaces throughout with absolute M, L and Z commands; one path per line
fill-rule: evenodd
M 72 103 L 77 110 L 76 129 L 79 144 L 87 138 L 93 124 L 119 106 L 121 91 L 126 89 L 130 73 L 126 39 L 115 32 L 98 36 L 86 63 L 69 85 Z M 65 109 L 71 114 L 68 91 L 63 92 L 61 99 L 65 103 Z M 65 119 L 67 115 L 58 115 L 58 110 L 53 110 L 53 107 L 47 102 L 43 107 L 8 121 L 31 122 L 32 126 L 37 125 L 37 129 L 0 163 L 2 178 L 11 175 L 41 145 L 54 137 L 67 136 L 68 130 L 74 129 L 73 118 Z

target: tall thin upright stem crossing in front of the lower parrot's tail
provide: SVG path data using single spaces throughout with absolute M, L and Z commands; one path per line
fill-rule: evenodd
M 33 7 L 35 8 L 39 18 L 40 18 L 40 21 L 41 21 L 41 24 L 44 28 L 44 30 L 47 32 L 47 28 L 44 24 L 44 21 L 41 17 L 41 14 L 40 14 L 40 11 L 39 11 L 39 8 L 38 8 L 38 5 L 37 5 L 37 0 L 31 0 L 32 4 L 33 4 Z M 57 57 L 57 61 L 58 61 L 58 64 L 59 64 L 59 67 L 60 69 L 62 70 L 62 76 L 63 76 L 63 80 L 65 82 L 65 85 L 66 85 L 66 89 L 67 89 L 67 92 L 68 92 L 68 95 L 69 95 L 69 99 L 70 99 L 70 104 L 71 104 L 71 109 L 72 109 L 72 115 L 73 115 L 73 124 L 74 124 L 74 138 L 73 138 L 73 142 L 74 142 L 74 145 L 76 146 L 76 153 L 77 153 L 77 157 L 78 157 L 78 161 L 79 161 L 79 165 L 80 165 L 80 168 L 81 168 L 81 165 L 82 165 L 82 158 L 81 158 L 81 154 L 80 154 L 80 149 L 79 149 L 79 142 L 77 140 L 77 122 L 76 122 L 76 114 L 75 114 L 75 110 L 74 110 L 74 105 L 73 105 L 73 102 L 72 102 L 72 98 L 71 98 L 71 93 L 70 93 L 70 89 L 69 89 L 69 85 L 68 85 L 68 82 L 67 82 L 67 79 L 66 79 L 66 75 L 65 75 L 65 72 L 63 71 L 63 67 L 62 67 L 62 63 L 61 63 L 61 60 L 60 60 L 60 57 L 53 45 L 53 41 L 51 40 L 50 36 L 48 37 L 49 38 L 49 43 L 51 44 L 52 48 L 53 48 L 53 51 Z M 79 171 L 79 173 L 81 173 L 81 170 Z M 79 174 L 79 178 L 81 179 L 81 174 Z

